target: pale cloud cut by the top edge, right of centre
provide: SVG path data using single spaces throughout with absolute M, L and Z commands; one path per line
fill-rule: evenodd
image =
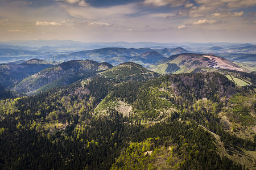
M 178 7 L 184 5 L 186 0 L 144 0 L 144 5 Z

